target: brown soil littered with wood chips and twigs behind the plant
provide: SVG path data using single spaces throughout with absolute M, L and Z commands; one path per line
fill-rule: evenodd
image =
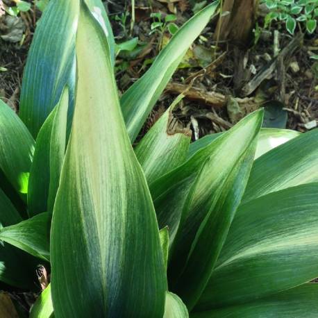
M 9 0 L 4 2 L 12 3 Z M 162 31 L 151 33 L 151 24 L 154 22 L 151 12 L 160 12 L 162 19 L 173 12 L 177 17 L 175 23 L 178 26 L 193 15 L 194 7 L 191 1 L 181 0 L 174 4 L 168 2 L 137 0 L 133 28 L 131 28 L 130 1 L 105 2 L 116 41 L 124 42 L 133 37 L 139 39 L 136 49 L 122 51 L 117 56 L 117 83 L 120 92 L 124 92 L 147 71 L 160 48 L 171 37 L 167 28 L 163 33 Z M 40 11 L 32 6 L 29 12 L 21 13 L 18 17 L 24 25 L 22 40 L 12 43 L 0 38 L 0 67 L 4 68 L 4 71 L 0 71 L 0 97 L 16 111 L 19 109 L 19 87 L 26 55 L 39 17 Z M 1 35 L 8 33 L 5 19 L 6 15 L 0 18 Z M 252 92 L 245 94 L 244 86 L 253 83 L 256 74 L 269 69 L 271 62 L 275 60 L 274 30 L 280 31 L 278 50 L 281 52 L 292 42 L 295 35 L 294 37 L 289 35 L 279 24 L 272 25 L 267 30 L 261 30 L 257 44 L 253 44 L 252 40 L 249 47 L 239 49 L 244 68 L 240 74 L 241 90 L 237 90 L 235 87 L 237 45 L 233 45 L 231 41 L 218 43 L 213 41 L 216 23 L 217 17 L 212 19 L 199 40 L 196 40 L 187 52 L 182 68 L 174 74 L 169 90 L 162 94 L 140 136 L 156 122 L 174 97 L 184 91 L 187 92 L 186 97 L 176 110 L 175 117 L 183 126 L 199 130 L 199 137 L 225 131 L 244 115 L 260 106 L 268 105 L 269 108 L 265 108 L 268 109 L 267 117 L 269 117 L 267 126 L 298 131 L 315 128 L 318 119 L 318 63 L 310 58 L 310 55 L 315 55 L 318 51 L 317 33 L 301 36 L 301 41 L 296 43 L 292 55 L 283 57 L 281 63 L 283 70 L 276 65 L 274 72 L 271 72 Z M 258 25 L 263 25 L 262 12 L 258 18 Z M 214 102 L 215 93 L 221 94 L 220 103 Z M 209 94 L 212 94 L 212 101 Z M 193 139 L 196 137 L 198 135 Z

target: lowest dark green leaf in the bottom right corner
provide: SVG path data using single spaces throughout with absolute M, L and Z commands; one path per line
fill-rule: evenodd
M 191 318 L 317 318 L 318 284 L 308 283 L 251 303 L 207 312 Z

